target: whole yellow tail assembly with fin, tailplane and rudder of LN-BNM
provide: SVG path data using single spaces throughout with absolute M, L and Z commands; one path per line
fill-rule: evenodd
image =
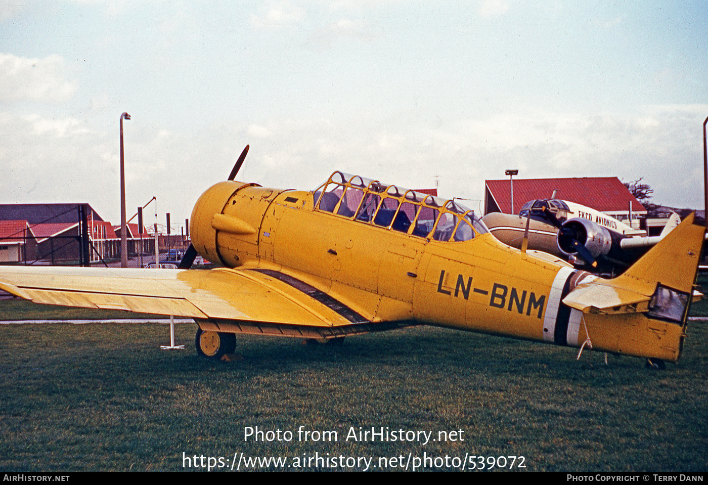
M 596 350 L 676 362 L 705 231 L 692 214 L 624 274 L 613 280 L 597 278 L 571 290 L 563 303 L 583 314 L 570 317 L 569 343 L 584 345 L 577 322 L 584 324 L 578 315 L 587 314 L 584 331 Z M 571 335 L 571 329 L 578 331 Z

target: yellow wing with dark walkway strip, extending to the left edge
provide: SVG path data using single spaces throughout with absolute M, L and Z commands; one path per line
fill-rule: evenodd
M 0 289 L 36 303 L 244 324 L 336 327 L 367 322 L 312 285 L 263 268 L 4 267 L 0 268 Z

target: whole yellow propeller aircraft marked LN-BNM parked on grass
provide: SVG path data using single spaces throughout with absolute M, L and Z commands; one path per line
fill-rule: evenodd
M 246 147 L 247 149 L 248 147 Z M 623 275 L 501 244 L 477 215 L 341 172 L 312 191 L 228 181 L 190 220 L 214 270 L 0 268 L 0 288 L 38 303 L 184 316 L 200 354 L 237 333 L 329 340 L 428 324 L 649 359 L 680 355 L 705 227 L 687 217 Z M 578 354 L 579 355 L 579 354 Z

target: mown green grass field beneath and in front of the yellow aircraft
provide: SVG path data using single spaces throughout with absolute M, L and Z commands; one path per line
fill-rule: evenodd
M 706 471 L 706 324 L 678 365 L 430 327 L 343 346 L 244 337 L 234 363 L 160 350 L 159 324 L 0 326 L 0 469 L 180 470 L 186 456 L 523 456 L 525 470 Z M 244 427 L 291 430 L 244 443 Z M 304 430 L 338 432 L 304 442 Z M 350 426 L 464 430 L 449 443 L 345 440 Z M 305 454 L 305 455 L 303 455 Z M 292 464 L 292 462 L 289 462 Z M 517 462 L 518 464 L 518 462 Z M 341 469 L 341 468 L 340 468 Z

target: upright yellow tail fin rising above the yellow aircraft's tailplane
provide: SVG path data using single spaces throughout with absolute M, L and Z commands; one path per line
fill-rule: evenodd
M 657 283 L 690 295 L 705 231 L 704 226 L 695 224 L 695 214 L 689 215 L 639 261 L 612 281 L 619 287 L 632 287 L 644 295 L 651 295 Z

